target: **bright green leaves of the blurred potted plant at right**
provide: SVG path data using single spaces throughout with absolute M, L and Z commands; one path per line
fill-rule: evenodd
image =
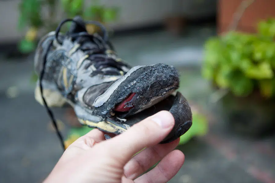
M 207 40 L 202 75 L 234 95 L 247 96 L 255 89 L 275 95 L 275 19 L 258 23 L 257 34 L 228 32 Z

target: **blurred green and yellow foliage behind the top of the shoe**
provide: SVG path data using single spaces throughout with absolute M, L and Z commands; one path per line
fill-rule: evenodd
M 23 31 L 24 28 L 28 28 L 28 30 L 25 38 L 18 44 L 20 52 L 29 53 L 34 51 L 38 31 L 41 31 L 44 35 L 55 30 L 60 21 L 56 17 L 60 17 L 60 14 L 64 18 L 73 18 L 79 15 L 85 20 L 96 20 L 101 23 L 117 19 L 118 8 L 100 5 L 100 1 L 90 2 L 92 5 L 89 6 L 85 5 L 84 0 L 21 0 L 18 29 Z M 42 16 L 42 9 L 43 11 L 45 9 L 49 16 Z M 96 31 L 97 29 L 92 27 L 89 30 Z M 93 32 L 90 31 L 90 33 Z

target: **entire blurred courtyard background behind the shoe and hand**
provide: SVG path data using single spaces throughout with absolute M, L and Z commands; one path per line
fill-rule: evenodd
M 193 126 L 171 183 L 275 183 L 274 9 L 274 0 L 0 0 L 0 182 L 42 182 L 62 155 L 34 99 L 33 56 L 42 35 L 80 15 L 105 24 L 132 66 L 178 69 Z M 69 107 L 53 112 L 66 145 L 90 130 Z

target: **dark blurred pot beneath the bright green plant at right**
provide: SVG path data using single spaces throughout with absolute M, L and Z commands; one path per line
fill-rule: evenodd
M 251 137 L 263 137 L 275 131 L 275 99 L 265 99 L 259 92 L 247 97 L 229 93 L 220 102 L 223 119 L 231 130 Z

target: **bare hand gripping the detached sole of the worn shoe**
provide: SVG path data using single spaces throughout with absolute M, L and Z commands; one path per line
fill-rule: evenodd
M 108 140 L 106 133 L 91 130 L 66 149 L 44 183 L 167 182 L 184 163 L 183 153 L 173 151 L 179 139 L 158 144 L 173 127 L 172 114 L 161 111 Z

